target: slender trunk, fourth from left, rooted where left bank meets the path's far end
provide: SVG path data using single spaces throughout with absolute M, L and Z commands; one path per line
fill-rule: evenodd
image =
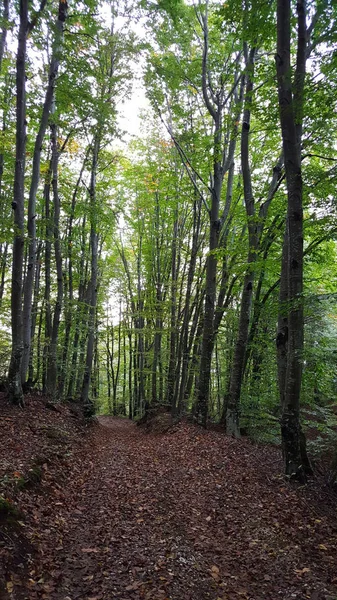
M 94 139 L 92 149 L 92 165 L 90 178 L 90 246 L 91 246 L 91 295 L 89 302 L 89 323 L 88 323 L 88 341 L 85 360 L 85 370 L 83 376 L 81 399 L 86 407 L 88 414 L 93 412 L 93 406 L 89 398 L 90 380 L 92 371 L 92 361 L 95 343 L 95 316 L 97 305 L 97 278 L 98 278 L 98 232 L 96 216 L 96 174 L 97 161 L 99 154 L 100 140 L 99 135 Z

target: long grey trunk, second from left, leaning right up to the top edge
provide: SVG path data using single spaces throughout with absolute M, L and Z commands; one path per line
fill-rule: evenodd
M 52 109 L 53 97 L 55 93 L 55 84 L 60 63 L 61 46 L 63 41 L 64 23 L 67 17 L 67 2 L 60 0 L 58 17 L 55 26 L 55 38 L 53 43 L 52 57 L 49 66 L 48 84 L 44 99 L 42 116 L 39 130 L 35 140 L 32 179 L 29 190 L 28 200 L 28 264 L 24 285 L 24 303 L 23 303 L 23 357 L 21 367 L 22 383 L 26 381 L 30 344 L 31 344 L 31 319 L 32 319 L 32 296 L 34 286 L 34 273 L 36 262 L 36 194 L 40 181 L 40 162 L 44 136 L 48 126 L 48 119 Z

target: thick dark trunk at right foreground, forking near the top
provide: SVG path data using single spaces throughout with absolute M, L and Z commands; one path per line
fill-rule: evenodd
M 297 59 L 294 86 L 291 80 L 291 3 L 277 2 L 276 71 L 280 121 L 287 181 L 288 210 L 288 348 L 281 418 L 285 473 L 305 480 L 300 427 L 300 393 L 303 361 L 303 203 L 301 134 L 303 85 L 307 54 L 306 3 L 297 2 Z M 282 282 L 281 282 L 282 286 Z M 302 445 L 302 448 L 301 448 Z

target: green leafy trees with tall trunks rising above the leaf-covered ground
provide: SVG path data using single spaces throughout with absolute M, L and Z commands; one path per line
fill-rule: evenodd
M 282 438 L 305 479 L 305 428 L 333 445 L 337 424 L 336 16 L 327 0 L 4 0 L 12 402 L 164 406 Z

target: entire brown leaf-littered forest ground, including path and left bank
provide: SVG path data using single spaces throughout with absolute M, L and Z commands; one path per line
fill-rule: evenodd
M 278 448 L 58 411 L 0 397 L 1 600 L 337 599 L 336 497 Z

